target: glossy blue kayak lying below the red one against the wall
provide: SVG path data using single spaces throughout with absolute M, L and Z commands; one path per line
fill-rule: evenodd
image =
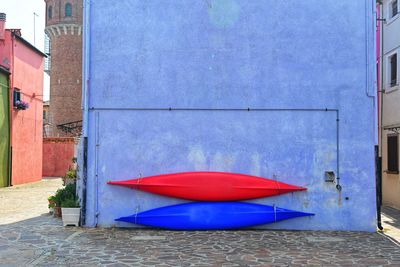
M 313 215 L 243 202 L 191 202 L 140 212 L 116 221 L 171 230 L 224 230 Z

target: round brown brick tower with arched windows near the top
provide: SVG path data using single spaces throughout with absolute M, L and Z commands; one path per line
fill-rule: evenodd
M 76 134 L 82 120 L 83 0 L 44 0 L 49 37 L 50 136 Z

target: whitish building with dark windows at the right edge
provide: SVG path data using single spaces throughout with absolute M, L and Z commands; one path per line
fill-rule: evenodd
M 400 208 L 400 0 L 381 3 L 383 203 Z

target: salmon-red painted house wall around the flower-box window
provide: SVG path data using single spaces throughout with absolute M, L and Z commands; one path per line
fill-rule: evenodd
M 5 67 L 11 72 L 10 103 L 13 103 L 13 88 L 16 87 L 21 91 L 21 99 L 30 105 L 27 110 L 11 107 L 12 184 L 40 181 L 44 57 L 9 31 L 2 44 L 0 58 L 7 62 Z

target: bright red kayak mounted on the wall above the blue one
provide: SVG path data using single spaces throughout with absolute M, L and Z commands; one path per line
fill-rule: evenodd
M 266 178 L 224 172 L 164 174 L 108 184 L 196 201 L 236 201 L 307 190 Z

